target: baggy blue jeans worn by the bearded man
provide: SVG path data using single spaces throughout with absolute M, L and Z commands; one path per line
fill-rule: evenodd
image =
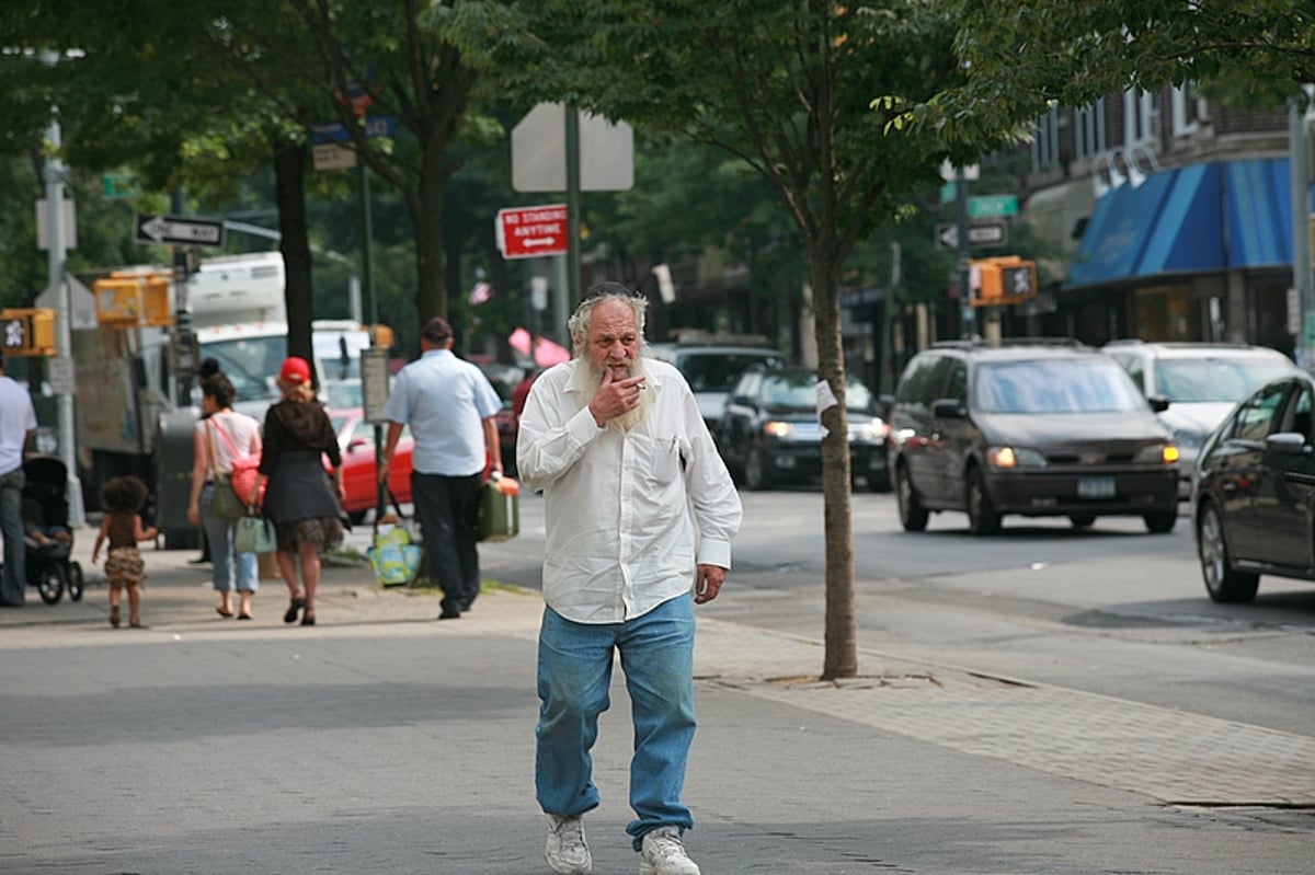
M 680 801 L 694 738 L 694 602 L 681 595 L 625 623 L 572 623 L 544 608 L 539 629 L 539 724 L 534 784 L 550 815 L 572 817 L 598 805 L 589 750 L 598 715 L 610 706 L 613 652 L 621 653 L 634 720 L 626 826 L 635 850 L 658 826 L 689 829 Z

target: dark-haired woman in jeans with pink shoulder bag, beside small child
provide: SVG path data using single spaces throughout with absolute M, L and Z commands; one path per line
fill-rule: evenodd
M 233 591 L 238 593 L 238 619 L 251 619 L 251 600 L 260 589 L 255 553 L 234 547 L 238 522 L 214 512 L 214 494 L 231 489 L 216 482 L 216 474 L 233 474 L 237 455 L 260 453 L 260 423 L 233 410 L 233 382 L 222 372 L 201 380 L 201 419 L 192 434 L 192 494 L 187 520 L 200 523 L 210 548 L 210 582 L 220 594 L 220 616 L 233 616 Z

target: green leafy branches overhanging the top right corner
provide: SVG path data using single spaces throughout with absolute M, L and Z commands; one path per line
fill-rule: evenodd
M 1216 83 L 1252 104 L 1306 100 L 1315 81 L 1308 0 L 957 0 L 956 51 L 968 76 L 910 118 L 972 137 L 1081 106 L 1128 87 Z M 878 92 L 893 93 L 893 92 Z

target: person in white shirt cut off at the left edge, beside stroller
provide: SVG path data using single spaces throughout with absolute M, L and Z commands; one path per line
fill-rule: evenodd
M 28 554 L 22 543 L 22 449 L 37 428 L 32 393 L 4 373 L 0 355 L 0 535 L 4 536 L 4 575 L 0 607 L 22 607 L 28 591 Z

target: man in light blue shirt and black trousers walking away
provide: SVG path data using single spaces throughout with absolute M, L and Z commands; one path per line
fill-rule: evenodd
M 388 482 L 397 439 L 410 426 L 412 501 L 425 537 L 426 574 L 443 587 L 441 620 L 455 620 L 480 593 L 479 514 L 484 468 L 502 473 L 493 415 L 502 399 L 484 372 L 452 355 L 452 327 L 434 317 L 421 330 L 421 357 L 397 373 L 384 405 L 379 482 Z

